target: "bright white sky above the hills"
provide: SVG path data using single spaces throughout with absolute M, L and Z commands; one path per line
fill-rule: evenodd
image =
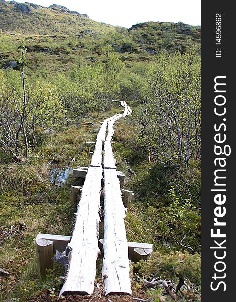
M 25 2 L 25 0 L 16 0 Z M 45 7 L 59 4 L 91 19 L 131 27 L 145 21 L 201 24 L 201 0 L 28 0 Z

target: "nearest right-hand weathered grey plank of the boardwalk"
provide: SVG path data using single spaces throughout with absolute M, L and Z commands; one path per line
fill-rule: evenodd
M 104 169 L 104 240 L 102 278 L 105 294 L 132 294 L 129 259 L 119 179 L 115 169 Z

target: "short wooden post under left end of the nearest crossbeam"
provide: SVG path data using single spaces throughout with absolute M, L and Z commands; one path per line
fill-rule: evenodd
M 35 239 L 37 265 L 40 277 L 45 279 L 46 269 L 53 268 L 53 242 L 42 238 Z

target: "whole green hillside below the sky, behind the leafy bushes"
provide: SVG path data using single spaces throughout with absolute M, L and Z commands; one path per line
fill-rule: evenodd
M 128 65 L 147 62 L 163 49 L 182 53 L 194 46 L 200 50 L 200 30 L 182 22 L 144 22 L 127 29 L 93 21 L 56 4 L 42 7 L 1 0 L 0 66 L 19 59 L 22 41 L 28 52 L 27 66 L 42 75 L 67 71 L 81 62 L 93 65 L 101 59 L 105 45 L 111 45 Z

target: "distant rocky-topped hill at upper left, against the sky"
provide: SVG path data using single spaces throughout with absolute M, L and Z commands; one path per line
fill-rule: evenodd
M 107 32 L 114 27 L 91 20 L 86 14 L 56 4 L 42 7 L 29 2 L 0 2 L 0 29 L 16 34 L 79 34 L 90 29 Z

